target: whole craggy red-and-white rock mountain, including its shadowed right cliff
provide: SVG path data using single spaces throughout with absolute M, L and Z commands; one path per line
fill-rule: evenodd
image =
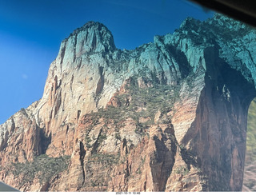
M 62 42 L 42 99 L 0 125 L 0 179 L 23 191 L 241 191 L 255 38 L 216 14 L 118 50 L 86 23 Z

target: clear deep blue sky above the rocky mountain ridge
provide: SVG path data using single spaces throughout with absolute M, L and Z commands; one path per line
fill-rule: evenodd
M 0 124 L 42 98 L 60 43 L 86 22 L 102 22 L 131 50 L 212 15 L 185 0 L 0 0 Z

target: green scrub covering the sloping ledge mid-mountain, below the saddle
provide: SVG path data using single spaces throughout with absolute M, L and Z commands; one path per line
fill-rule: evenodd
M 117 106 L 109 105 L 106 109 L 98 109 L 98 112 L 90 113 L 93 118 L 93 124 L 97 124 L 102 117 L 105 124 L 114 122 L 115 128 L 118 129 L 123 125 L 122 121 L 127 118 L 132 118 L 136 123 L 135 132 L 144 135 L 144 129 L 149 125 L 154 124 L 154 115 L 161 111 L 162 115 L 170 112 L 174 108 L 174 103 L 179 99 L 180 85 L 169 86 L 159 84 L 158 82 L 150 82 L 149 86 L 139 87 L 138 76 L 131 78 L 130 83 L 126 86 L 126 94 L 117 94 L 114 98 L 117 101 Z M 142 122 L 140 118 L 147 120 Z M 170 123 L 170 117 L 166 118 L 163 123 Z M 115 136 L 120 139 L 118 133 Z M 86 144 L 90 146 L 90 139 L 86 138 Z

